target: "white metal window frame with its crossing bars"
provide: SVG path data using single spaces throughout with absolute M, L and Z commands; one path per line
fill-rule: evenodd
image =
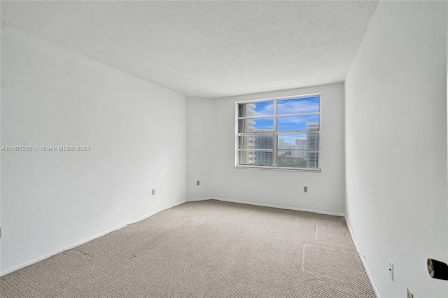
M 288 113 L 281 114 L 280 118 L 290 117 L 290 116 L 305 116 L 305 115 L 318 115 L 319 116 L 319 129 L 313 131 L 288 131 L 288 132 L 277 132 L 277 118 L 279 115 L 277 114 L 277 104 L 279 101 L 290 100 L 290 99 L 306 99 L 309 97 L 319 97 L 319 109 L 318 112 L 313 113 Z M 239 117 L 239 106 L 242 104 L 256 104 L 260 102 L 269 102 L 272 101 L 274 104 L 273 115 L 261 115 L 261 116 L 244 116 Z M 254 136 L 257 133 L 252 132 L 239 132 L 239 120 L 244 119 L 262 119 L 262 118 L 274 118 L 274 127 L 272 132 L 261 132 L 259 135 L 272 135 L 272 149 L 253 149 L 253 151 L 267 151 L 272 152 L 272 166 L 258 166 L 254 164 L 239 164 L 239 136 Z M 297 152 L 317 152 L 317 167 L 316 168 L 307 168 L 304 166 L 278 166 L 276 165 L 277 155 L 278 155 L 278 136 L 281 134 L 317 134 L 318 148 L 316 150 L 297 150 Z M 248 151 L 248 150 L 245 150 Z M 287 150 L 286 150 L 287 151 Z M 295 151 L 295 150 L 293 150 Z M 321 93 L 312 93 L 312 94 L 300 94 L 295 96 L 288 97 L 272 97 L 267 99 L 254 99 L 248 101 L 237 101 L 235 102 L 235 168 L 237 169 L 268 169 L 268 170 L 276 170 L 276 171 L 308 171 L 308 172 L 321 172 L 321 160 L 322 160 L 322 151 L 321 151 Z M 275 164 L 275 165 L 274 165 Z

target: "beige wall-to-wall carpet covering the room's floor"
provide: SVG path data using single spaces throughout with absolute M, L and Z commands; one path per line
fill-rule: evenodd
M 375 297 L 344 218 L 189 202 L 3 276 L 1 297 Z

